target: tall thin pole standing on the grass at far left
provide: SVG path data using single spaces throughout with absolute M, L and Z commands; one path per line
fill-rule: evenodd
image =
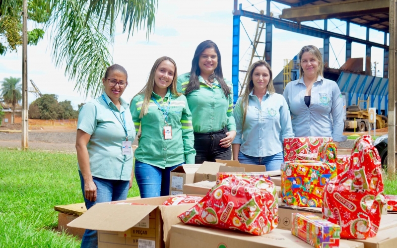
M 27 59 L 27 0 L 23 0 L 22 11 L 22 149 L 28 148 L 28 59 Z

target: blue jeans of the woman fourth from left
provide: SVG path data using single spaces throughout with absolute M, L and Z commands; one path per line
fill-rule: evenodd
M 276 153 L 266 157 L 252 157 L 239 151 L 239 162 L 242 164 L 264 165 L 266 171 L 280 170 L 284 162 L 283 152 Z

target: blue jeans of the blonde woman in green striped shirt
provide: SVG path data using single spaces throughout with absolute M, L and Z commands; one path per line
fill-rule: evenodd
M 169 195 L 170 172 L 183 164 L 161 169 L 135 160 L 135 179 L 139 187 L 140 198 Z

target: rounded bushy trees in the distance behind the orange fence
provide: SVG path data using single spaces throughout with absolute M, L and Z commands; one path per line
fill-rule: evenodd
M 29 106 L 30 119 L 58 120 L 77 119 L 78 111 L 73 110 L 70 101 L 58 102 L 58 96 L 44 94 Z

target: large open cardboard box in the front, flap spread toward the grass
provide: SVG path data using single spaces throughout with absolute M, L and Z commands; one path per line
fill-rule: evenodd
M 98 230 L 98 248 L 168 248 L 171 226 L 195 205 L 161 205 L 169 197 L 118 201 L 147 205 L 98 203 L 67 226 Z

